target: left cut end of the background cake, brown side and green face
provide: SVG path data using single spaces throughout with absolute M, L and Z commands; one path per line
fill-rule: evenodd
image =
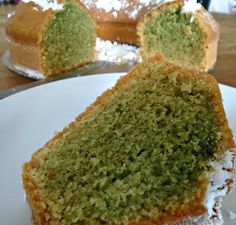
M 94 58 L 95 23 L 79 0 L 23 0 L 6 23 L 11 63 L 45 77 Z

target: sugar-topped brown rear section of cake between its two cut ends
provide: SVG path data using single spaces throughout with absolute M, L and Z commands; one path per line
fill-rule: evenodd
M 81 0 L 97 22 L 97 35 L 110 41 L 138 44 L 136 26 L 161 0 Z

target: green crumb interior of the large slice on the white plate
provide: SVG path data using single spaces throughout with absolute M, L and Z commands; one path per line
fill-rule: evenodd
M 59 224 L 126 224 L 197 193 L 217 151 L 209 85 L 157 67 L 43 150 L 34 178 Z

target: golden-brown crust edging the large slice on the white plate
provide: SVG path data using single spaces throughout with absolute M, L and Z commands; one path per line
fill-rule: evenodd
M 118 92 L 119 89 L 121 89 L 126 83 L 131 80 L 133 77 L 138 76 L 139 73 L 142 72 L 143 69 L 148 68 L 150 65 L 154 63 L 165 63 L 168 67 L 168 70 L 175 71 L 178 69 L 179 71 L 183 71 L 183 74 L 185 73 L 191 73 L 192 81 L 203 81 L 206 83 L 209 83 L 212 85 L 211 93 L 212 93 L 212 104 L 214 106 L 214 113 L 215 117 L 217 118 L 216 123 L 218 126 L 224 131 L 224 140 L 222 140 L 222 154 L 231 148 L 235 147 L 235 143 L 233 141 L 232 131 L 228 127 L 228 121 L 225 117 L 225 112 L 222 105 L 222 98 L 220 94 L 220 90 L 217 84 L 217 81 L 214 79 L 213 76 L 200 73 L 195 70 L 187 70 L 187 69 L 181 69 L 178 66 L 175 66 L 173 64 L 166 63 L 165 61 L 161 60 L 158 56 L 152 57 L 148 59 L 146 62 L 142 64 L 138 64 L 135 66 L 126 76 L 123 76 L 120 78 L 116 85 L 105 91 L 100 97 L 97 98 L 97 100 L 92 103 L 83 113 L 81 113 L 74 122 L 69 124 L 62 132 L 59 132 L 55 135 L 55 137 L 50 140 L 43 148 L 39 149 L 37 152 L 35 152 L 32 155 L 32 159 L 30 162 L 27 162 L 23 165 L 23 186 L 26 190 L 27 197 L 29 204 L 31 205 L 32 212 L 33 212 L 33 219 L 34 223 L 36 225 L 50 225 L 50 211 L 47 208 L 47 206 L 44 206 L 41 204 L 40 195 L 39 195 L 39 187 L 37 186 L 37 183 L 34 181 L 33 178 L 33 171 L 37 169 L 39 166 L 39 160 L 40 157 L 44 155 L 44 148 L 50 148 L 55 142 L 57 142 L 58 139 L 60 139 L 64 134 L 70 131 L 70 128 L 73 128 L 76 126 L 76 123 L 79 121 L 82 121 L 84 118 L 86 118 L 90 113 L 100 104 L 102 104 L 104 101 L 106 101 L 107 98 L 109 98 L 114 93 Z M 189 76 L 188 76 L 189 77 Z M 183 76 L 184 79 L 184 76 Z M 191 199 L 190 202 L 188 202 L 186 205 L 187 207 L 184 209 L 180 209 L 177 212 L 172 213 L 165 213 L 160 215 L 157 218 L 152 219 L 143 219 L 139 222 L 133 222 L 130 221 L 129 225 L 162 225 L 165 223 L 171 224 L 172 222 L 176 223 L 177 221 L 180 221 L 181 219 L 185 217 L 191 217 L 191 216 L 198 216 L 206 212 L 206 208 L 203 206 L 202 202 L 205 197 L 205 191 L 208 186 L 208 181 L 203 181 L 201 185 L 201 189 L 199 190 L 198 194 L 195 196 L 195 199 Z

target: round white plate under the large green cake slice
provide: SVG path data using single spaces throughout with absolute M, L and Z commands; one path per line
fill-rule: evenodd
M 0 225 L 31 225 L 21 185 L 21 166 L 121 74 L 71 78 L 42 85 L 0 101 Z M 236 136 L 236 89 L 221 85 L 225 110 Z M 236 212 L 236 192 L 224 201 Z M 226 218 L 227 225 L 236 220 Z

